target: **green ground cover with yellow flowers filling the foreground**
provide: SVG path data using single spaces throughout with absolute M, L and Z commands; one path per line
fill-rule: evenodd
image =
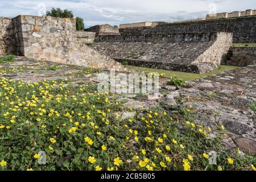
M 226 151 L 220 135 L 196 125 L 193 106 L 127 111 L 95 85 L 0 78 L 1 170 L 255 170 L 253 156 Z M 132 107 L 130 111 L 134 111 Z M 40 151 L 46 164 L 40 165 Z M 217 165 L 210 165 L 210 151 Z

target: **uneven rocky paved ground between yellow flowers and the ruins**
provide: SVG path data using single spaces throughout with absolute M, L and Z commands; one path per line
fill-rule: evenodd
M 56 65 L 17 57 L 12 63 L 0 65 L 0 77 L 25 82 L 65 79 L 73 86 L 98 84 L 97 69 L 85 69 L 70 65 Z M 108 72 L 106 72 L 108 73 Z M 173 111 L 181 106 L 193 106 L 196 122 L 210 127 L 216 137 L 225 126 L 228 131 L 223 143 L 226 148 L 241 148 L 249 155 L 256 155 L 256 65 L 242 67 L 187 82 L 183 88 L 167 85 L 169 79 L 160 78 L 160 93 L 156 95 L 118 95 L 123 107 L 134 111 L 121 113 L 123 118 L 139 114 L 143 108 L 160 106 Z

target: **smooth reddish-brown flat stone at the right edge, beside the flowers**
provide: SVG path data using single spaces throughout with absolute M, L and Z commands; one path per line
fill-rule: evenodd
M 250 140 L 248 138 L 237 138 L 234 140 L 234 142 L 239 148 L 241 148 L 241 150 L 246 152 L 246 154 L 256 156 L 256 142 L 254 142 L 253 140 Z

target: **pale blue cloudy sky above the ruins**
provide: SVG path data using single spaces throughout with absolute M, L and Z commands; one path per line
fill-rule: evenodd
M 41 15 L 51 7 L 73 11 L 86 27 L 96 24 L 204 18 L 208 13 L 256 9 L 255 0 L 0 0 L 0 16 Z

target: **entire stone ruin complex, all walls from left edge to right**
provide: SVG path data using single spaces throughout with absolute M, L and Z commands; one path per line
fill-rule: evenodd
M 255 27 L 256 16 L 251 15 L 119 29 L 104 24 L 76 31 L 75 19 L 20 15 L 0 18 L 0 53 L 104 69 L 123 70 L 120 63 L 125 63 L 205 73 L 221 63 L 253 63 L 253 53 L 244 58 L 246 49 L 237 54 L 230 46 L 254 43 Z

